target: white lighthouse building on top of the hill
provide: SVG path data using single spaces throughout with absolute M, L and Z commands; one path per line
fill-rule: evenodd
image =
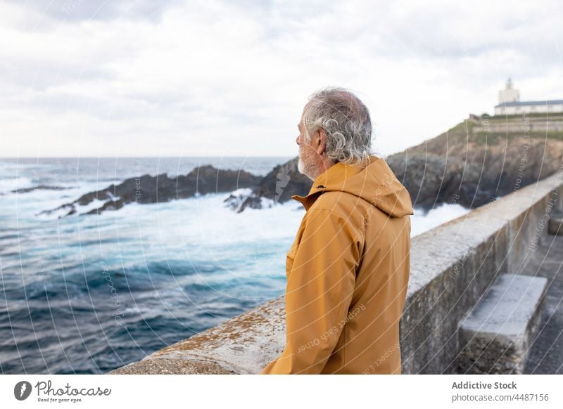
M 506 89 L 498 91 L 498 105 L 495 115 L 518 115 L 526 113 L 563 112 L 563 100 L 531 100 L 521 101 L 520 93 L 512 87 L 512 79 L 508 79 Z

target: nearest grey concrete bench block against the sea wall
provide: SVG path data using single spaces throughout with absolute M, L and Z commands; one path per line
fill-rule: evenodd
M 542 322 L 547 278 L 502 274 L 460 327 L 461 373 L 521 374 Z

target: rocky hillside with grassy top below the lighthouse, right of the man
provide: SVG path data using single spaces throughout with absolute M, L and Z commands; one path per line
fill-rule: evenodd
M 563 162 L 563 115 L 470 115 L 386 160 L 419 206 L 479 207 L 557 171 Z

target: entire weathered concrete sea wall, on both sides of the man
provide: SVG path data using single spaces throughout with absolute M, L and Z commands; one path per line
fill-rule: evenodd
M 458 329 L 499 273 L 521 273 L 563 210 L 563 167 L 412 238 L 400 323 L 403 373 L 455 372 Z M 167 346 L 115 374 L 258 373 L 284 348 L 284 297 Z

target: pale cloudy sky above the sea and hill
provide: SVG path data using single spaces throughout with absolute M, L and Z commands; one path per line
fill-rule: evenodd
M 559 4 L 558 4 L 559 3 Z M 389 155 L 470 112 L 563 99 L 560 2 L 0 2 L 0 157 L 292 156 L 345 86 Z

